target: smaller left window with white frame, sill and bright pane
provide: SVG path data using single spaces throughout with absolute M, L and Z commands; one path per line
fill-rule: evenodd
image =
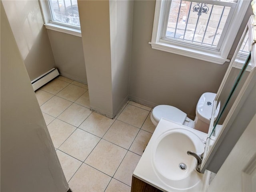
M 77 0 L 40 0 L 47 29 L 81 37 Z

